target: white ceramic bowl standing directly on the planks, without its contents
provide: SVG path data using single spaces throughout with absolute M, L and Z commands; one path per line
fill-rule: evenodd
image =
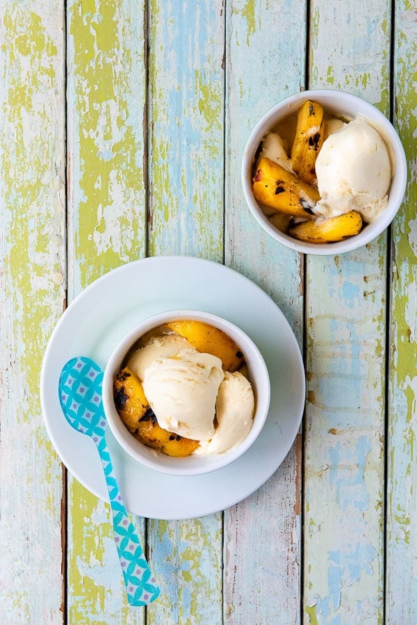
M 263 213 L 261 206 L 256 202 L 252 193 L 252 168 L 254 166 L 256 151 L 259 149 L 261 140 L 285 117 L 297 113 L 306 99 L 318 102 L 324 108 L 325 113 L 330 113 L 336 117 L 352 119 L 361 116 L 365 118 L 384 139 L 389 148 L 393 164 L 393 177 L 389 189 L 389 204 L 386 206 L 382 215 L 373 223 L 363 227 L 362 231 L 356 236 L 352 236 L 338 243 L 304 243 L 281 232 L 272 225 L 268 217 L 265 216 L 265 213 Z M 305 254 L 343 254 L 344 252 L 356 250 L 358 247 L 373 241 L 375 237 L 386 229 L 398 212 L 402 198 L 404 197 L 406 183 L 407 162 L 404 148 L 391 122 L 389 122 L 385 115 L 380 113 L 375 106 L 369 104 L 369 102 L 343 91 L 303 91 L 279 102 L 279 104 L 276 104 L 270 111 L 265 113 L 256 124 L 247 140 L 245 152 L 243 154 L 243 193 L 245 194 L 247 204 L 256 221 L 259 222 L 263 229 L 268 232 L 272 238 L 275 238 L 276 241 L 283 243 L 287 247 L 291 247 L 291 249 L 297 252 L 304 252 Z

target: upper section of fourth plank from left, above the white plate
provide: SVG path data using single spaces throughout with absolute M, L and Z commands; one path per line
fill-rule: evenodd
M 227 6 L 224 256 L 277 302 L 302 340 L 302 261 L 256 223 L 240 168 L 250 132 L 280 100 L 304 88 L 304 1 L 233 1 Z

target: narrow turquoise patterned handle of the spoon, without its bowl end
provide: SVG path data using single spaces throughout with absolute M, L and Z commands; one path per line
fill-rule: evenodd
M 126 585 L 127 599 L 131 606 L 145 606 L 154 601 L 159 595 L 159 588 L 149 569 L 145 554 L 136 534 L 135 527 L 131 523 L 124 508 L 122 495 L 117 485 L 113 463 L 106 444 L 106 438 L 99 437 L 95 440 L 101 464 L 103 464 L 104 476 L 110 498 L 111 512 L 113 514 L 113 533 L 117 552 L 119 553 L 124 583 Z

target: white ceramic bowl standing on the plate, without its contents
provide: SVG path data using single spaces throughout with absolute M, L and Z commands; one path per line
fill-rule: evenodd
M 120 371 L 122 362 L 127 352 L 129 352 L 129 349 L 141 336 L 149 332 L 149 330 L 163 325 L 163 323 L 167 323 L 168 321 L 180 319 L 204 321 L 205 323 L 223 330 L 231 339 L 234 339 L 242 350 L 249 370 L 256 400 L 254 423 L 249 435 L 242 444 L 221 455 L 200 456 L 192 454 L 185 458 L 177 458 L 160 453 L 135 439 L 126 429 L 115 408 L 115 403 L 113 401 L 113 378 L 115 374 Z M 166 311 L 139 323 L 117 345 L 104 371 L 103 405 L 113 435 L 115 435 L 115 438 L 122 448 L 135 458 L 135 460 L 145 464 L 150 469 L 155 469 L 162 473 L 175 476 L 196 476 L 202 473 L 215 471 L 233 462 L 236 458 L 245 453 L 255 441 L 256 437 L 258 437 L 268 416 L 270 405 L 270 379 L 268 368 L 265 365 L 261 352 L 252 339 L 230 321 L 203 311 Z

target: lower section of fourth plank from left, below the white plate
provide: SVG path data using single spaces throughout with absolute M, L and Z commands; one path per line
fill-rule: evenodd
M 277 473 L 224 511 L 225 623 L 300 622 L 301 466 L 298 435 Z

